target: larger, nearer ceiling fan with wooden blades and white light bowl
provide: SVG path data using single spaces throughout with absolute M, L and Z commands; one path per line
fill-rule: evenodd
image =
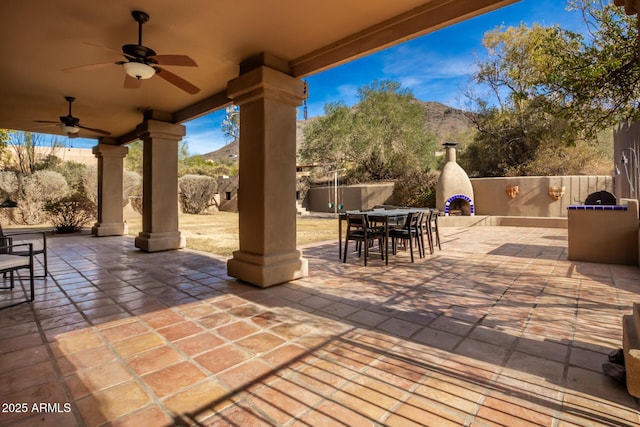
M 81 65 L 79 67 L 67 68 L 65 71 L 95 70 L 116 64 L 122 65 L 127 73 L 124 80 L 124 87 L 127 89 L 137 89 L 142 84 L 142 80 L 150 79 L 157 74 L 159 77 L 187 93 L 194 95 L 200 92 L 198 87 L 161 67 L 165 65 L 197 67 L 198 64 L 187 55 L 157 55 L 153 49 L 144 46 L 142 44 L 142 24 L 149 20 L 149 15 L 145 12 L 134 10 L 131 12 L 131 16 L 133 16 L 133 19 L 138 23 L 138 44 L 125 44 L 122 46 L 122 52 L 118 52 L 115 49 L 85 42 L 91 46 L 101 47 L 118 55 L 122 55 L 126 61 Z

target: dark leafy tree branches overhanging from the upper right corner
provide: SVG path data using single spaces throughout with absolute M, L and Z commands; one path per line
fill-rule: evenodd
M 544 84 L 558 103 L 555 112 L 589 135 L 640 118 L 640 62 L 637 17 L 612 1 L 572 0 L 587 35 L 566 32 L 570 44 L 549 43 L 555 63 Z M 553 42 L 553 40 L 551 41 Z

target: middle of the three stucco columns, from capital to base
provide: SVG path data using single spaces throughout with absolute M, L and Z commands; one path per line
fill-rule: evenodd
M 183 248 L 185 239 L 178 230 L 178 145 L 185 127 L 145 120 L 137 133 L 143 142 L 142 231 L 135 246 L 146 252 Z

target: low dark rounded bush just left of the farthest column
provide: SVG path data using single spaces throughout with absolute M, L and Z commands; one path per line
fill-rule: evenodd
M 49 220 L 58 233 L 74 233 L 95 218 L 96 206 L 81 193 L 45 204 Z

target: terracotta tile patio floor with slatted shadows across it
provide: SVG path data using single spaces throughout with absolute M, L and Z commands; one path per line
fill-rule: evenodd
M 0 425 L 640 423 L 601 371 L 637 267 L 567 261 L 566 230 L 443 234 L 387 267 L 310 246 L 312 275 L 269 289 L 192 251 L 51 238 L 36 302 L 0 311 Z

